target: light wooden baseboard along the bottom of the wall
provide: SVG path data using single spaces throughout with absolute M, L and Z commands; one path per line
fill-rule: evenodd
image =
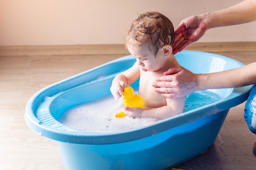
M 256 42 L 196 42 L 186 50 L 217 52 L 256 51 Z M 124 44 L 0 46 L 0 56 L 24 55 L 129 55 Z

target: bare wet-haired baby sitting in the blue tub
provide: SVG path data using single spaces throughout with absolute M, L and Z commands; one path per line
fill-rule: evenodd
M 121 97 L 122 89 L 140 78 L 139 95 L 145 102 L 141 108 L 125 106 L 126 115 L 165 119 L 183 112 L 185 97 L 165 98 L 151 86 L 155 78 L 169 68 L 180 66 L 172 53 L 174 36 L 172 22 L 161 13 L 143 13 L 132 22 L 126 33 L 125 46 L 137 61 L 113 79 L 111 92 Z

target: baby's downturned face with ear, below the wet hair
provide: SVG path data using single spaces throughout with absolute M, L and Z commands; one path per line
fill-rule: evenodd
M 165 57 L 159 51 L 155 55 L 147 46 L 138 46 L 133 43 L 130 43 L 127 48 L 131 55 L 136 57 L 137 64 L 142 71 L 157 71 L 164 65 Z

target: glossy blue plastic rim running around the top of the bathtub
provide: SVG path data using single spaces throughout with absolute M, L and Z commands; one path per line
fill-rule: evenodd
M 201 53 L 201 54 L 207 54 L 206 52 L 199 52 L 199 51 L 184 51 L 184 53 Z M 222 55 L 217 55 L 211 53 L 211 55 L 214 55 L 216 57 L 225 57 Z M 247 97 L 249 96 L 250 89 L 253 87 L 253 85 L 244 86 L 240 88 L 234 88 L 233 91 L 225 98 L 214 102 L 212 104 L 202 106 L 200 108 L 196 108 L 194 110 L 190 110 L 188 112 L 182 113 L 180 115 L 170 117 L 164 120 L 161 120 L 159 122 L 156 122 L 155 124 L 151 124 L 148 126 L 144 126 L 141 128 L 131 129 L 131 130 L 125 130 L 120 132 L 109 132 L 109 133 L 97 133 L 97 132 L 88 132 L 83 130 L 77 130 L 74 128 L 70 128 L 69 131 L 67 130 L 56 130 L 56 128 L 49 127 L 47 125 L 44 125 L 41 123 L 41 121 L 38 120 L 38 118 L 34 114 L 33 107 L 35 104 L 38 104 L 38 100 L 41 100 L 42 97 L 38 98 L 38 96 L 43 96 L 45 94 L 45 91 L 54 91 L 54 87 L 58 86 L 61 83 L 65 83 L 67 80 L 72 79 L 74 77 L 79 77 L 81 75 L 84 75 L 88 73 L 89 71 L 93 71 L 95 69 L 98 69 L 99 67 L 108 66 L 109 64 L 112 64 L 113 62 L 126 60 L 127 58 L 131 58 L 131 55 L 121 57 L 119 59 L 113 60 L 111 62 L 108 62 L 106 64 L 102 64 L 100 66 L 97 66 L 95 68 L 92 68 L 88 71 L 84 71 L 82 73 L 79 73 L 77 75 L 74 75 L 72 77 L 69 77 L 67 79 L 61 80 L 59 82 L 56 82 L 52 85 L 49 85 L 37 93 L 35 93 L 27 102 L 26 109 L 25 109 L 25 121 L 27 125 L 34 130 L 39 135 L 45 136 L 47 138 L 56 140 L 56 141 L 63 141 L 68 143 L 75 143 L 75 144 L 115 144 L 115 143 L 121 143 L 121 142 L 127 142 L 127 141 L 133 141 L 137 139 L 141 139 L 144 137 L 155 135 L 159 132 L 168 130 L 170 128 L 174 128 L 177 126 L 182 126 L 183 124 L 187 124 L 191 121 L 202 119 L 206 116 L 212 115 L 212 114 L 205 114 L 206 110 L 211 108 L 212 106 L 215 106 L 216 113 L 227 110 L 231 107 L 234 107 L 242 102 L 244 102 Z M 133 57 L 132 57 L 133 58 Z M 231 59 L 231 58 L 229 58 Z M 234 60 L 234 59 L 231 59 Z M 238 62 L 237 60 L 234 60 L 235 62 Z M 239 62 L 240 63 L 240 62 Z M 244 64 L 241 63 L 241 66 Z M 53 88 L 53 89 L 52 89 Z M 225 100 L 223 102 L 223 100 Z M 229 104 L 227 104 L 229 103 Z M 189 120 L 189 121 L 188 121 Z M 166 128 L 168 127 L 168 128 Z M 106 137 L 108 136 L 108 137 Z

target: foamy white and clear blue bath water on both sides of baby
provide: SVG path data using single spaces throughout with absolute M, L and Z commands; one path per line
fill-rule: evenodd
M 216 102 L 222 97 L 211 91 L 198 91 L 186 97 L 184 112 Z M 112 95 L 102 97 L 66 110 L 58 119 L 66 126 L 91 132 L 117 132 L 144 126 L 154 118 L 117 118 L 115 114 L 123 111 L 124 104 L 120 98 L 115 101 Z

